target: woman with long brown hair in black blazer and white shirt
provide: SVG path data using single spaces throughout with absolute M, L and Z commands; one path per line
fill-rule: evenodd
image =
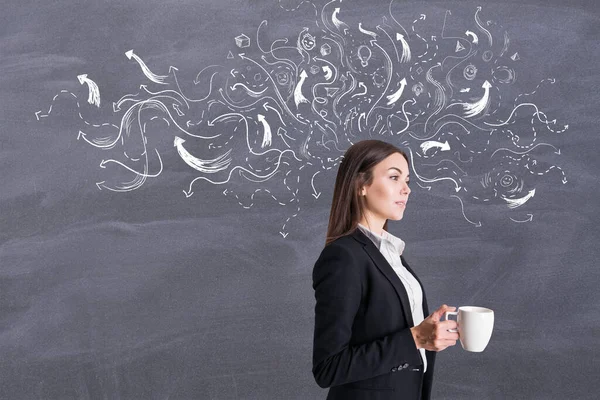
M 379 140 L 352 145 L 340 164 L 313 269 L 313 374 L 327 399 L 429 399 L 435 352 L 458 339 L 456 321 L 440 321 L 455 307 L 429 315 L 404 242 L 387 232 L 408 183 L 406 154 Z

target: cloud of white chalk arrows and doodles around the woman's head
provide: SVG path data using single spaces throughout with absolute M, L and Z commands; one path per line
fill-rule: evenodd
M 474 212 L 484 204 L 505 209 L 510 221 L 530 223 L 528 204 L 551 195 L 536 193 L 539 179 L 567 183 L 549 160 L 560 156 L 550 141 L 569 126 L 531 100 L 555 80 L 542 79 L 514 98 L 521 56 L 501 24 L 481 19 L 481 7 L 449 32 L 450 10 L 419 14 L 404 27 L 396 18 L 402 5 L 394 0 L 378 23 L 352 22 L 341 1 L 301 4 L 314 8 L 314 26 L 268 41 L 268 21 L 262 21 L 255 38 L 232 37 L 223 58 L 188 84 L 180 85 L 174 66 L 157 75 L 127 51 L 146 79 L 139 91 L 112 104 L 113 122 L 92 124 L 79 112 L 85 126 L 74 133 L 98 151 L 121 151 L 119 159 L 100 163 L 111 173 L 98 189 L 129 192 L 159 177 L 168 149 L 152 144 L 158 132 L 172 135 L 189 167 L 182 192 L 190 201 L 203 185 L 223 185 L 223 195 L 244 209 L 273 202 L 287 214 L 279 230 L 284 238 L 301 204 L 319 200 L 325 176 L 333 179 L 343 152 L 362 139 L 406 149 L 417 185 L 460 204 L 458 215 L 474 227 L 485 222 Z M 280 6 L 290 13 L 300 7 Z M 432 17 L 441 31 L 422 29 Z M 77 79 L 87 84 L 87 102 L 99 108 L 98 85 L 86 74 Z M 77 110 L 88 107 L 63 90 L 35 116 L 45 121 L 55 103 L 73 100 Z

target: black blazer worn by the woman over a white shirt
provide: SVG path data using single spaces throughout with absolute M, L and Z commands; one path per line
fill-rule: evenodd
M 312 371 L 319 386 L 330 388 L 327 399 L 430 398 L 436 353 L 426 351 L 423 374 L 406 289 L 360 229 L 325 246 L 313 268 L 313 289 Z M 425 290 L 423 315 L 429 315 Z

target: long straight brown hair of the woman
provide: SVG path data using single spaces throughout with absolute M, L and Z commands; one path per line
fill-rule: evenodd
M 372 183 L 375 165 L 394 153 L 402 154 L 408 163 L 406 153 L 381 140 L 362 140 L 346 150 L 335 179 L 325 245 L 358 227 L 365 208 L 359 191 Z M 383 229 L 387 230 L 387 220 Z

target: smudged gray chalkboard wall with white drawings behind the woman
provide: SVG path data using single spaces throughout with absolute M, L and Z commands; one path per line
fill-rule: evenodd
M 0 398 L 324 398 L 311 272 L 369 138 L 431 307 L 495 310 L 434 397 L 597 398 L 599 43 L 591 1 L 4 2 Z

